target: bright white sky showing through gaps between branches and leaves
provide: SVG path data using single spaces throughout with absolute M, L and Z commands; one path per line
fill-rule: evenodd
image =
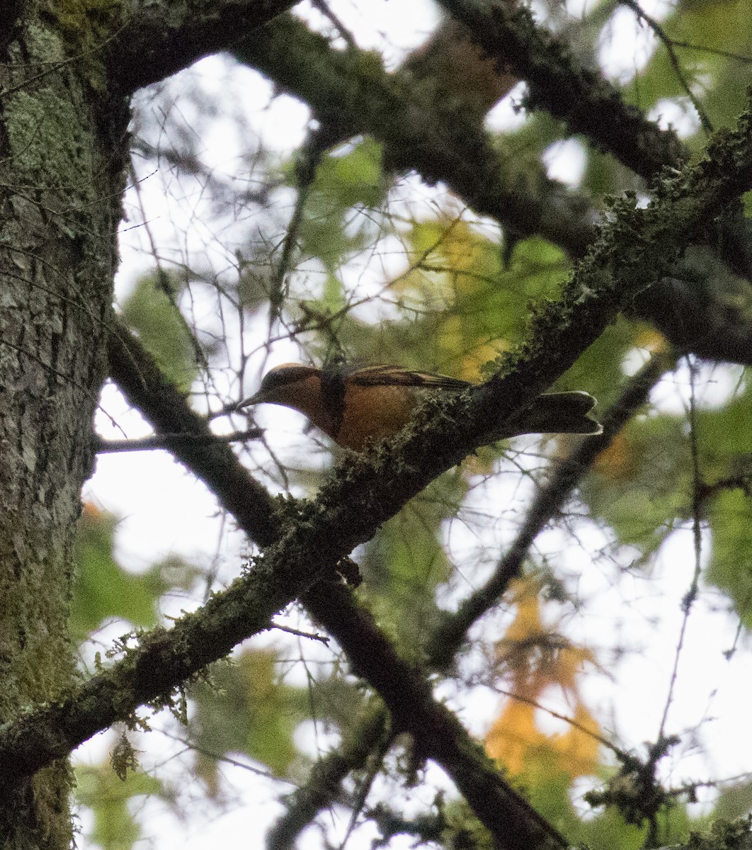
M 587 4 L 569 5 L 580 7 Z M 387 58 L 395 65 L 405 51 L 421 42 L 437 20 L 433 4 L 427 0 L 384 0 L 378 3 L 335 0 L 331 6 L 356 34 L 362 47 L 383 49 L 385 45 L 389 46 Z M 661 14 L 667 3 L 643 2 L 642 6 L 650 14 Z M 614 44 L 619 44 L 620 49 L 614 50 Z M 646 44 L 644 30 L 635 26 L 631 14 L 620 9 L 613 19 L 613 42 L 609 46 L 606 63 L 608 74 L 620 78 L 632 73 L 636 63 L 647 60 Z M 218 97 L 222 94 L 223 77 L 227 72 L 223 59 L 205 59 L 195 71 L 201 73 L 204 82 L 216 79 Z M 243 84 L 236 89 L 242 92 L 240 108 L 251 116 L 266 144 L 289 153 L 304 137 L 307 111 L 290 98 L 271 99 L 269 85 L 252 72 L 240 69 L 237 73 L 243 77 Z M 510 122 L 522 121 L 523 117 L 512 111 L 510 99 L 506 99 L 489 120 L 496 126 L 508 126 Z M 211 158 L 212 165 L 232 175 L 238 150 L 223 134 L 221 124 L 218 124 L 217 133 L 208 140 L 207 146 L 207 156 Z M 581 144 L 576 140 L 553 146 L 547 158 L 552 176 L 572 182 L 579 179 L 583 163 Z M 199 207 L 191 206 L 193 201 L 181 197 L 178 192 L 163 194 L 159 179 L 151 183 L 144 181 L 142 191 L 147 199 L 151 226 L 156 233 L 169 234 L 173 226 L 178 230 L 184 225 L 193 227 L 200 218 L 196 216 Z M 144 254 L 144 246 L 140 243 L 143 235 L 139 229 L 130 229 L 123 234 L 123 262 L 118 276 L 120 292 L 127 291 L 139 273 L 151 268 L 148 252 Z M 206 245 L 206 235 L 199 233 L 195 244 Z M 227 248 L 226 245 L 224 247 Z M 285 352 L 281 350 L 275 352 L 274 357 L 277 361 L 286 359 Z M 661 403 L 676 404 L 676 394 L 671 388 L 661 388 L 656 397 L 662 399 Z M 128 437 L 149 433 L 138 414 L 127 410 L 127 405 L 114 388 L 105 388 L 102 404 Z M 289 439 L 300 445 L 310 439 L 302 435 L 302 420 L 295 414 L 262 411 L 260 419 L 262 422 L 274 421 L 275 430 L 285 433 L 281 441 Z M 104 416 L 99 416 L 98 421 L 100 433 L 105 437 L 122 437 L 122 433 L 110 428 Z M 488 497 L 488 493 L 485 495 Z M 122 562 L 133 569 L 145 567 L 167 553 L 183 554 L 199 563 L 210 564 L 216 562 L 218 552 L 221 553 L 222 575 L 230 577 L 240 569 L 240 536 L 229 534 L 221 527 L 212 496 L 165 452 L 99 456 L 96 473 L 86 487 L 85 497 L 123 517 L 117 537 L 117 552 Z M 478 498 L 481 497 L 483 490 L 478 490 Z M 592 542 L 597 545 L 602 541 Z M 461 541 L 454 543 L 461 545 Z M 556 532 L 551 532 L 539 543 L 541 547 L 549 545 L 557 550 L 561 540 Z M 584 561 L 580 552 L 565 559 L 564 568 L 569 575 L 577 576 L 578 590 L 584 598 L 591 600 L 583 611 L 569 619 L 570 637 L 575 641 L 606 646 L 623 641 L 640 648 L 639 652 L 626 655 L 615 666 L 616 683 L 605 676 L 585 677 L 585 694 L 592 708 L 607 715 L 610 713 L 613 728 L 618 730 L 616 740 L 619 745 L 639 747 L 644 740 L 654 740 L 674 663 L 681 626 L 681 598 L 692 579 L 691 530 L 679 530 L 671 537 L 664 546 L 659 564 L 647 577 L 622 577 L 617 584 L 613 575 L 605 575 L 602 570 Z M 189 604 L 176 601 L 175 609 L 167 613 L 178 615 L 180 607 L 189 607 Z M 614 610 L 620 612 L 618 626 L 613 622 Z M 735 627 L 735 622 L 725 613 L 723 600 L 705 592 L 689 622 L 667 728 L 667 731 L 677 733 L 698 728 L 698 732 L 694 736 L 687 735 L 673 759 L 667 760 L 666 767 L 671 768 L 670 781 L 673 783 L 681 779 L 738 774 L 752 767 L 752 733 L 746 709 L 749 686 L 743 669 L 743 666 L 748 667 L 749 659 L 744 651 L 739 651 L 731 660 L 723 657 L 723 652 L 732 646 Z M 616 628 L 620 630 L 618 636 L 614 634 Z M 114 627 L 114 634 L 121 632 L 121 627 Z M 741 643 L 747 644 L 745 649 L 749 649 L 748 640 L 744 639 Z M 469 698 L 465 694 L 464 699 L 466 705 L 458 706 L 463 720 L 475 733 L 483 734 L 498 711 L 496 696 L 484 689 L 476 689 Z M 567 711 L 566 706 L 551 707 Z M 717 719 L 704 722 L 709 717 Z M 608 727 L 608 718 L 602 717 L 602 720 Z M 551 718 L 544 718 L 541 723 L 551 723 Z M 608 732 L 608 728 L 605 731 Z M 313 740 L 310 730 L 302 730 L 301 734 L 302 739 L 308 739 L 310 744 Z M 159 733 L 152 734 L 148 744 L 144 744 L 144 750 L 152 751 L 158 737 Z M 702 746 L 693 746 L 698 740 Z M 98 736 L 82 747 L 79 757 L 102 757 L 103 751 L 110 745 L 108 742 L 111 743 L 109 736 Z M 176 750 L 179 746 L 165 739 L 163 745 L 157 747 L 157 758 L 169 762 L 169 754 Z M 178 763 L 179 760 L 175 762 Z M 166 769 L 169 774 L 171 768 Z M 178 776 L 179 769 L 174 773 Z M 195 811 L 189 811 L 183 821 L 178 821 L 160 802 L 146 801 L 147 842 L 139 847 L 199 850 L 210 846 L 211 842 L 239 847 L 253 846 L 260 841 L 280 811 L 275 799 L 285 786 L 270 785 L 266 779 L 259 779 L 240 768 L 224 768 L 223 774 L 227 786 L 236 795 L 236 804 L 230 807 L 229 813 L 216 820 L 207 820 L 210 816 L 206 810 L 197 807 Z M 438 777 L 438 770 L 433 770 L 433 774 Z M 449 787 L 445 779 L 438 777 L 437 781 Z M 427 791 L 414 793 L 416 807 L 421 797 L 424 803 L 430 802 Z M 86 823 L 87 816 L 84 814 L 84 826 Z M 370 834 L 360 835 L 354 846 L 369 846 L 371 837 Z M 399 848 L 403 843 L 405 847 L 409 845 L 409 842 L 399 840 L 392 846 Z M 83 839 L 79 846 L 92 847 Z M 303 847 L 319 847 L 316 836 L 308 836 Z

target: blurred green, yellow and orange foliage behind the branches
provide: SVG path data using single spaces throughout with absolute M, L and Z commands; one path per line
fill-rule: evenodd
M 566 38 L 583 62 L 601 65 L 626 100 L 673 123 L 685 144 L 699 150 L 706 133 L 696 105 L 713 127 L 729 126 L 752 83 L 749 4 L 659 3 L 651 6 L 653 19 L 640 21 L 635 6 L 549 0 L 535 3 L 534 10 L 540 26 Z M 310 10 L 305 15 L 311 26 L 331 31 L 330 22 Z M 618 58 L 615 44 L 625 31 L 636 35 L 631 63 L 623 51 Z M 223 72 L 232 80 L 238 71 L 228 60 Z M 381 140 L 371 136 L 315 153 L 311 145 L 292 154 L 272 150 L 261 135 L 263 111 L 250 119 L 237 104 L 227 110 L 217 89 L 202 88 L 202 77 L 191 73 L 137 101 L 135 161 L 139 173 L 167 164 L 169 195 L 178 200 L 200 195 L 201 201 L 190 202 L 189 220 L 176 221 L 174 235 L 150 236 L 144 254 L 152 259 L 151 269 L 132 275 L 119 309 L 167 376 L 193 392 L 197 405 L 220 410 L 252 391 L 265 368 L 285 360 L 393 362 L 480 381 L 502 352 L 524 338 L 531 304 L 557 296 L 571 269 L 562 246 L 541 236 L 520 240 L 508 226 L 474 216 L 440 184 L 421 184 L 414 174 L 385 169 Z M 506 126 L 491 121 L 489 127 L 496 147 L 523 171 L 529 168 L 533 182 L 563 141 L 563 128 L 543 112 L 507 116 Z M 218 133 L 241 140 L 237 172 L 230 176 L 212 165 Z M 608 153 L 583 140 L 577 148 L 582 162 L 567 191 L 587 199 L 594 219 L 606 196 L 645 191 Z M 302 164 L 310 156 L 315 176 L 302 184 Z M 149 209 L 148 196 L 141 203 Z M 638 365 L 668 350 L 651 326 L 619 319 L 558 386 L 586 389 L 597 395 L 600 411 L 608 411 Z M 263 440 L 239 446 L 243 461 L 270 488 L 313 496 L 330 464 L 331 445 L 305 431 L 299 418 L 277 426 L 275 414 L 258 416 L 268 430 Z M 225 423 L 225 433 L 240 425 L 240 419 L 218 422 Z M 525 437 L 480 450 L 356 553 L 365 580 L 359 592 L 404 654 L 422 659 L 441 612 L 455 609 L 489 575 L 525 519 L 530 499 L 556 474 L 571 445 L 571 439 Z M 630 823 L 615 804 L 589 811 L 584 790 L 615 787 L 619 777 L 622 791 L 628 785 L 625 751 L 647 762 L 641 742 L 619 739 L 608 705 L 593 700 L 587 687 L 590 677 L 609 673 L 608 652 L 616 658 L 640 649 L 608 633 L 608 618 L 615 622 L 618 610 L 597 610 L 601 622 L 591 641 L 581 629 L 568 636 L 573 612 L 587 604 L 579 595 L 578 571 L 596 564 L 614 587 L 627 575 L 649 577 L 676 530 L 686 530 L 695 519 L 701 527 L 700 586 L 704 592 L 715 588 L 714 604 L 732 612 L 744 633 L 738 649 L 748 645 L 750 458 L 752 388 L 744 369 L 680 360 L 652 403 L 635 411 L 597 457 L 564 512 L 551 517 L 556 531 L 549 527 L 547 542 L 529 549 L 523 577 L 489 616 L 488 627 L 472 632 L 455 665 L 444 672 L 444 683 L 452 683 L 447 693 L 465 711 L 473 689 L 498 694 L 485 726 L 489 755 L 573 843 L 603 850 L 642 847 L 646 837 L 648 843 L 676 843 L 690 828 L 703 827 L 714 806 L 715 813 L 729 817 L 752 806 L 749 777 L 721 787 L 714 785 L 718 777 L 709 776 L 717 793 L 700 813 L 689 808 L 696 788 L 688 785 L 665 796 L 652 818 Z M 108 624 L 121 632 L 154 626 L 162 621 L 166 598 L 201 601 L 202 594 L 231 579 L 208 570 L 201 558 L 191 564 L 174 557 L 133 570 L 117 555 L 117 536 L 118 519 L 88 504 L 72 600 L 72 633 L 82 644 L 82 665 L 95 663 L 92 647 Z M 238 560 L 232 563 L 237 569 Z M 290 612 L 284 623 L 287 631 L 240 647 L 206 682 L 189 689 L 184 726 L 165 722 L 163 734 L 182 742 L 165 759 L 179 763 L 179 783 L 174 771 L 163 773 L 158 764 L 129 771 L 125 781 L 116 778 L 109 757 L 78 768 L 87 846 L 145 846 L 139 841 L 149 833 L 144 824 L 150 810 L 144 815 L 139 801 L 146 796 L 181 817 L 197 800 L 207 811 L 221 810 L 232 795 L 220 768 L 233 760 L 269 777 L 274 789 L 302 784 L 317 755 L 336 746 L 371 711 L 370 698 L 316 624 L 302 610 Z M 630 699 L 636 706 L 663 700 L 667 687 Z M 540 723 L 546 713 L 541 706 L 552 693 L 561 721 L 553 731 Z M 137 751 L 151 746 L 150 737 L 128 734 Z M 401 791 L 394 796 L 394 789 L 413 770 L 408 762 L 409 756 L 400 761 L 382 753 L 376 768 L 384 779 L 373 785 L 368 802 L 360 797 L 373 780 L 365 765 L 336 801 L 356 808 L 359 816 L 376 817 L 374 807 L 382 803 L 399 810 Z M 670 785 L 669 776 L 660 779 Z M 427 808 L 441 815 L 440 843 L 460 846 L 458 836 L 473 836 L 483 846 L 461 804 L 437 797 Z M 384 819 L 376 820 L 383 831 Z M 326 833 L 325 826 L 320 829 Z M 420 835 L 414 839 L 420 841 Z

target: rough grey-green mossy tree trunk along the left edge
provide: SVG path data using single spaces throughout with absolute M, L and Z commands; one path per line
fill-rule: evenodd
M 124 101 L 50 8 L 27 3 L 0 56 L 0 723 L 74 676 L 71 546 L 122 214 Z M 69 847 L 70 791 L 58 762 L 0 799 L 0 847 Z

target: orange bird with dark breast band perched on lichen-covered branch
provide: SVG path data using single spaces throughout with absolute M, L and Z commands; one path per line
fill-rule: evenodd
M 361 452 L 399 433 L 427 393 L 456 394 L 475 386 L 458 378 L 395 365 L 351 364 L 320 369 L 283 363 L 270 369 L 257 392 L 235 405 L 235 410 L 260 404 L 291 407 L 308 416 L 337 445 Z M 539 395 L 504 428 L 489 428 L 478 445 L 523 433 L 601 433 L 600 424 L 591 418 L 596 404 L 591 394 L 579 390 Z

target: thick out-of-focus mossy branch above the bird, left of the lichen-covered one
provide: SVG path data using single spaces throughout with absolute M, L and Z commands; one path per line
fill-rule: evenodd
M 515 235 L 543 235 L 574 257 L 594 238 L 588 199 L 517 167 L 466 111 L 427 99 L 409 73 L 387 74 L 376 54 L 332 50 L 292 15 L 233 52 L 308 103 L 332 144 L 370 133 L 384 144 L 391 167 L 416 169 L 429 183 L 442 180 L 475 212 Z

